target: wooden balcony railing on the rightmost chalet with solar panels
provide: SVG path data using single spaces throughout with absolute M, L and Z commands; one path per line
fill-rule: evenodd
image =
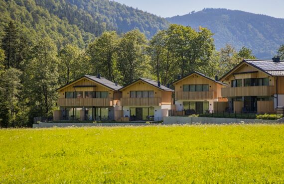
M 274 86 L 248 86 L 236 88 L 222 88 L 222 96 L 271 96 L 275 92 Z

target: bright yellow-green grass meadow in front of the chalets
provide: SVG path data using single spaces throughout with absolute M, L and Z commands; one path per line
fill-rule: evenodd
M 284 183 L 284 125 L 0 129 L 0 183 Z

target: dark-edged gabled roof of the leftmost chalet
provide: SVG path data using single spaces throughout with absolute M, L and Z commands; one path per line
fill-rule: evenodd
M 113 83 L 113 82 L 107 80 L 106 78 L 103 78 L 103 77 L 98 78 L 98 77 L 96 77 L 96 76 L 84 75 L 84 76 L 80 77 L 79 79 L 76 79 L 76 80 L 74 80 L 74 81 L 72 81 L 72 82 L 70 82 L 70 83 L 68 83 L 68 84 L 66 84 L 66 85 L 64 85 L 64 86 L 62 86 L 62 87 L 60 87 L 60 88 L 58 88 L 56 91 L 61 90 L 61 89 L 63 89 L 63 88 L 66 88 L 67 86 L 71 85 L 72 83 L 75 83 L 75 82 L 77 82 L 77 81 L 80 81 L 80 80 L 83 79 L 83 78 L 87 78 L 87 79 L 89 79 L 89 80 L 91 80 L 91 81 L 94 81 L 94 82 L 96 82 L 96 83 L 99 83 L 99 84 L 101 84 L 102 86 L 105 86 L 105 87 L 107 87 L 107 88 L 109 88 L 109 89 L 111 89 L 111 90 L 114 90 L 114 91 L 118 91 L 119 89 L 122 88 L 122 86 L 119 86 L 119 85 L 116 86 L 115 83 Z

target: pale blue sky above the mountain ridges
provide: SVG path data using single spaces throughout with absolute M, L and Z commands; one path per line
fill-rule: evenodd
M 227 8 L 284 18 L 284 0 L 115 0 L 161 17 L 184 15 L 205 7 Z

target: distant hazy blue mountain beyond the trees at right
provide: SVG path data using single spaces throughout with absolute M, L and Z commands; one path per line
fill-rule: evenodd
M 284 19 L 239 10 L 204 8 L 182 16 L 166 18 L 170 23 L 209 28 L 217 49 L 232 44 L 246 46 L 262 59 L 270 59 L 284 44 Z

